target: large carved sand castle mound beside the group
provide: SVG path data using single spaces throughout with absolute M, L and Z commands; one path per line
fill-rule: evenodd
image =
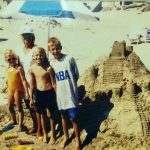
M 84 101 L 109 99 L 113 104 L 109 111 L 105 109 L 101 131 L 150 136 L 150 72 L 132 46 L 114 42 L 110 55 L 97 60 L 79 84 L 85 89 Z

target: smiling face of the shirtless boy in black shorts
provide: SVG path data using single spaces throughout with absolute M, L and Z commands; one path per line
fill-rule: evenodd
M 40 49 L 37 49 L 34 52 L 33 57 L 34 57 L 35 63 L 41 65 L 44 61 L 44 58 L 45 58 L 45 52 L 43 52 Z

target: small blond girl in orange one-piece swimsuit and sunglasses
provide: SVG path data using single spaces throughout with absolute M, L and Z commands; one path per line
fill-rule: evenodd
M 19 112 L 19 126 L 18 131 L 22 131 L 23 126 L 23 108 L 22 99 L 29 98 L 27 89 L 27 81 L 25 79 L 24 69 L 20 65 L 19 57 L 13 50 L 7 51 L 5 54 L 5 60 L 8 62 L 7 72 L 7 90 L 8 90 L 8 107 L 13 120 L 13 124 L 17 124 L 16 113 L 14 110 L 14 103 Z

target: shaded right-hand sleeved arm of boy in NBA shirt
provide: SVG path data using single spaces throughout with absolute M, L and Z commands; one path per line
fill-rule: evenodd
M 72 70 L 72 73 L 73 73 L 73 77 L 74 77 L 74 79 L 76 81 L 78 81 L 78 79 L 79 79 L 79 71 L 78 71 L 78 67 L 77 67 L 76 61 L 72 57 L 69 62 L 70 62 L 71 70 Z

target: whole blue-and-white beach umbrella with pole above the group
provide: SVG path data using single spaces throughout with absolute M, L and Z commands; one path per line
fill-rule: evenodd
M 51 18 L 99 20 L 82 2 L 65 0 L 15 0 L 0 13 L 0 18 L 26 19 L 31 15 L 49 18 L 48 38 Z

